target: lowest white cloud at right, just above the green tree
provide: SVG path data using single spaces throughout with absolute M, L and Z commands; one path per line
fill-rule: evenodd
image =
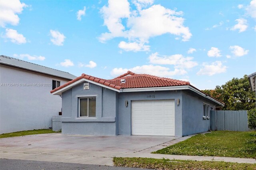
M 196 74 L 197 75 L 214 75 L 219 73 L 225 73 L 227 67 L 222 65 L 221 61 L 215 61 L 210 65 L 208 63 L 203 63 L 203 68 L 200 69 Z

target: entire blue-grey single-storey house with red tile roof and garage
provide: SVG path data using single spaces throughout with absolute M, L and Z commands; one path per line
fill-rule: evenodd
M 224 106 L 187 81 L 130 71 L 82 74 L 51 93 L 62 96 L 62 134 L 186 136 L 208 131 L 210 110 Z

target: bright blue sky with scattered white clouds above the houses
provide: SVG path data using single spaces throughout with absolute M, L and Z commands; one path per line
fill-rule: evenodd
M 256 0 L 0 0 L 0 54 L 112 79 L 213 89 L 256 71 Z

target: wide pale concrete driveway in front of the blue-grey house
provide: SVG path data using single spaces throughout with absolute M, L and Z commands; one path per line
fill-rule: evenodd
M 112 165 L 112 157 L 168 146 L 173 136 L 83 136 L 60 133 L 0 139 L 0 158 Z

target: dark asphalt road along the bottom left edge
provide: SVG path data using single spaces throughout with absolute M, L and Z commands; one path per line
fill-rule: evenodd
M 0 159 L 0 170 L 141 170 L 141 168 L 124 168 L 116 166 L 73 164 L 34 160 Z

